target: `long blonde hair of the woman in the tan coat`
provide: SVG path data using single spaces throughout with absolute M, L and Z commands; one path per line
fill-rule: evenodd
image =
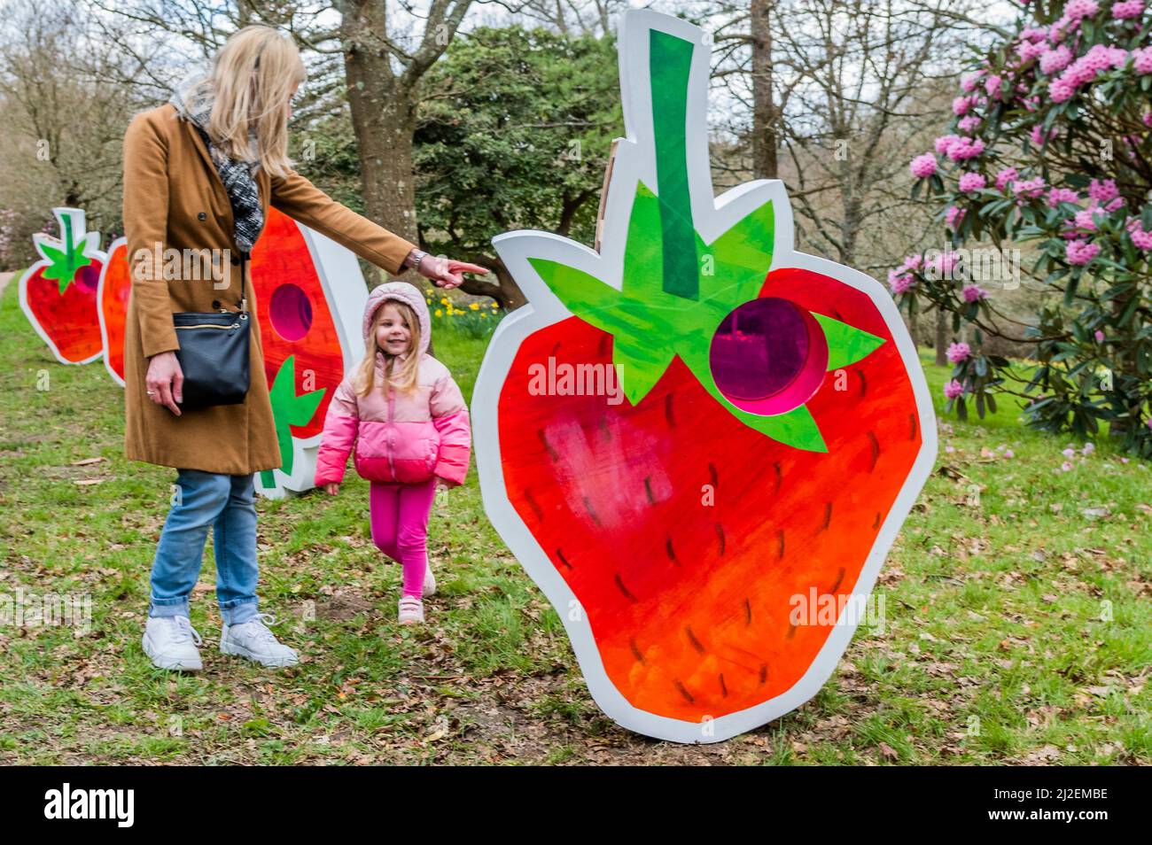
M 232 159 L 255 159 L 268 175 L 287 176 L 293 166 L 288 101 L 306 76 L 300 50 L 287 35 L 263 24 L 234 32 L 213 58 L 209 75 L 215 92 L 212 140 Z M 249 130 L 256 134 L 255 151 Z

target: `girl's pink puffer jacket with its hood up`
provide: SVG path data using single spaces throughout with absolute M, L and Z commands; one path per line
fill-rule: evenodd
M 420 291 L 407 282 L 374 288 L 364 310 L 365 342 L 377 310 L 388 299 L 410 305 L 419 319 L 418 387 L 412 394 L 385 393 L 382 352 L 377 352 L 376 385 L 367 396 L 357 396 L 351 376 L 346 378 L 324 420 L 317 487 L 343 480 L 354 449 L 356 472 L 369 481 L 418 484 L 437 475 L 458 485 L 468 474 L 468 406 L 448 368 L 426 351 L 432 326 Z

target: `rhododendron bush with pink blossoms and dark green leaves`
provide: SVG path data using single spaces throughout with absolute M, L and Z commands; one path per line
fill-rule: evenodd
M 1023 401 L 1030 424 L 1091 437 L 1107 422 L 1152 456 L 1152 38 L 1145 0 L 1037 1 L 1013 36 L 968 73 L 934 150 L 916 157 L 912 193 L 941 205 L 950 248 L 910 256 L 889 274 L 915 313 L 938 307 L 956 344 L 949 410 Z M 996 302 L 1010 281 L 957 273 L 967 245 L 1030 243 L 1024 273 L 1043 297 L 1023 330 Z M 983 286 L 983 287 L 982 287 Z M 983 351 L 992 335 L 1034 342 L 1039 366 Z

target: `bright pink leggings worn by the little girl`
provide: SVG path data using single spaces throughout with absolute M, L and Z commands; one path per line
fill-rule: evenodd
M 429 513 L 435 479 L 416 485 L 372 484 L 369 512 L 372 542 L 404 568 L 404 595 L 420 596 L 427 566 Z

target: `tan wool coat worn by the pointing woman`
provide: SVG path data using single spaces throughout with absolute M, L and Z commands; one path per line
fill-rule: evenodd
M 287 177 L 256 176 L 260 205 L 268 204 L 294 220 L 331 237 L 389 273 L 399 273 L 414 244 L 336 203 L 295 170 Z M 230 250 L 238 269 L 240 249 L 233 239 L 228 192 L 199 134 L 166 104 L 136 115 L 124 135 L 124 236 L 132 272 L 124 338 L 124 455 L 161 466 L 230 475 L 280 466 L 264 376 L 260 329 L 251 326 L 251 386 L 240 405 L 183 411 L 176 417 L 145 395 L 149 358 L 180 348 L 172 315 L 180 311 L 237 311 L 240 273 L 214 279 L 165 280 L 156 259 L 141 269 L 139 251 Z M 147 260 L 147 259 L 144 259 Z M 181 262 L 196 267 L 198 261 Z M 221 261 L 223 269 L 229 267 Z M 249 265 L 245 265 L 245 269 Z M 169 272 L 169 275 L 172 273 Z M 251 274 L 245 272 L 248 310 L 256 311 Z

